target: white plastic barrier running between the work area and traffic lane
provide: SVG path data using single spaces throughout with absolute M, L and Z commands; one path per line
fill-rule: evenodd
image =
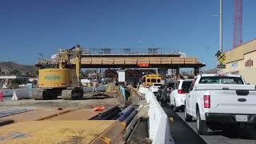
M 153 144 L 166 144 L 174 143 L 173 138 L 170 135 L 170 123 L 169 119 L 159 105 L 158 100 L 154 94 L 147 88 L 140 87 L 138 93 L 145 94 L 146 102 L 150 106 L 149 119 L 150 119 L 150 138 L 153 139 Z

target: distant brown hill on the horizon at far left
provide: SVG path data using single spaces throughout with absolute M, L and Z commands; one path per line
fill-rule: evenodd
M 0 62 L 0 74 L 36 74 L 37 66 L 33 65 L 21 65 L 15 62 Z

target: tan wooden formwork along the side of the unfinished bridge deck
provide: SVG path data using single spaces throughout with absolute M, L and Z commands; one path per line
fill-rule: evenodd
M 38 65 L 52 65 L 56 60 L 39 60 Z M 70 59 L 75 64 L 75 59 Z M 182 57 L 180 54 L 85 54 L 82 53 L 82 68 L 136 68 L 165 67 L 167 69 L 194 68 L 206 66 L 198 58 Z

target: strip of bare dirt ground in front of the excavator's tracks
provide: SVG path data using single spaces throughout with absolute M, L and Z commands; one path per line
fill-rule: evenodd
M 104 93 L 109 97 L 94 96 L 94 94 L 84 94 L 82 100 L 63 100 L 61 98 L 54 100 L 34 100 L 34 99 L 22 99 L 22 100 L 8 100 L 0 102 L 0 110 L 7 108 L 86 108 L 93 109 L 97 106 L 115 106 L 119 104 L 117 93 Z

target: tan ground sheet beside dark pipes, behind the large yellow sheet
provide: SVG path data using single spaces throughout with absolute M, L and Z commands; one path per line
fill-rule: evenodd
M 98 112 L 88 109 L 73 110 L 69 113 L 59 114 L 56 117 L 48 118 L 47 120 L 88 120 L 96 116 Z

